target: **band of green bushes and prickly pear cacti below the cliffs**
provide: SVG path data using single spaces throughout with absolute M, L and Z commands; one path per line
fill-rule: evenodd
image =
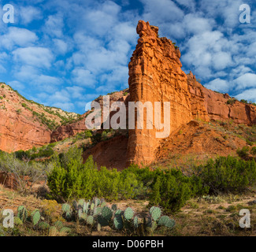
M 98 167 L 92 157 L 83 162 L 82 148 L 73 146 L 58 154 L 52 149 L 54 145 L 1 153 L 0 171 L 13 176 L 17 193 L 24 198 L 34 195 L 39 200 L 36 208 L 15 206 L 15 228 L 2 228 L 2 235 L 176 235 L 184 208 L 195 210 L 202 201 L 219 203 L 219 198 L 228 195 L 246 195 L 256 183 L 254 158 L 244 160 L 243 155 L 209 159 L 186 172 L 181 167 L 152 169 L 138 165 L 118 172 Z M 49 158 L 36 161 L 36 152 Z M 250 152 L 254 154 L 254 147 Z M 36 183 L 41 184 L 37 190 Z M 125 207 L 121 202 L 127 202 Z M 134 202 L 143 205 L 141 213 Z M 223 207 L 219 207 L 221 211 Z M 157 217 L 153 217 L 153 209 L 158 209 Z M 225 211 L 234 213 L 235 209 L 237 206 L 231 204 Z M 128 212 L 131 217 L 127 217 Z M 203 212 L 208 216 L 217 210 Z M 172 224 L 166 226 L 164 220 Z

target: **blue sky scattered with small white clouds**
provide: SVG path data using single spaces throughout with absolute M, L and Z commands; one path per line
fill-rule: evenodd
M 14 6 L 5 24 L 2 6 Z M 241 4 L 251 9 L 241 24 Z M 138 20 L 176 42 L 184 72 L 206 87 L 256 102 L 253 0 L 0 0 L 0 81 L 28 99 L 84 113 L 87 102 L 128 87 Z

